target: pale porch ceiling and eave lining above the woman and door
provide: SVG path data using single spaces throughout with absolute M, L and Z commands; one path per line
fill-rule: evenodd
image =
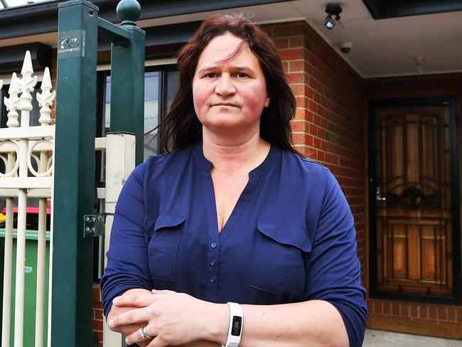
M 198 1 L 196 13 L 144 19 L 139 21 L 139 25 L 146 28 L 198 21 L 217 12 L 204 11 L 204 8 L 203 12 L 200 12 L 201 2 L 203 1 Z M 337 25 L 333 30 L 328 30 L 323 25 L 328 2 L 335 3 L 334 0 L 296 0 L 220 12 L 244 11 L 252 14 L 254 20 L 259 23 L 304 20 L 363 78 L 417 75 L 419 72 L 416 57 L 422 57 L 423 74 L 462 72 L 462 11 L 454 11 L 455 7 L 446 7 L 446 10 L 451 12 L 375 20 L 362 0 L 340 0 L 338 2 L 343 7 L 340 16 L 344 28 Z M 415 6 L 418 6 L 419 2 L 421 3 L 413 1 Z M 439 2 L 443 5 L 448 2 L 454 3 L 452 0 Z M 440 11 L 445 11 L 444 7 Z M 55 47 L 56 33 L 8 38 L 0 40 L 0 46 L 36 41 Z M 340 52 L 338 43 L 342 41 L 353 43 L 350 53 Z

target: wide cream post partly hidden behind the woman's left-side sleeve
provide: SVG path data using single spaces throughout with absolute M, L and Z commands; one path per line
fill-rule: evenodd
M 122 158 L 121 158 L 122 156 Z M 114 220 L 115 205 L 119 198 L 124 182 L 135 167 L 135 136 L 130 134 L 107 134 L 106 146 L 106 203 L 104 211 L 106 216 L 106 230 L 104 233 L 104 254 L 109 249 L 112 221 Z M 104 257 L 104 267 L 107 258 Z M 122 335 L 114 333 L 103 319 L 103 346 L 125 346 Z

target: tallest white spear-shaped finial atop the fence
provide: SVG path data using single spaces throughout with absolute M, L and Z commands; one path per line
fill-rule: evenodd
M 21 70 L 21 79 L 18 79 L 19 91 L 21 97 L 19 97 L 19 110 L 21 110 L 21 125 L 23 127 L 29 126 L 29 112 L 32 110 L 32 95 L 33 88 L 37 84 L 37 76 L 33 76 L 31 52 L 26 50 L 26 56 L 24 57 L 23 68 Z M 24 112 L 26 111 L 26 112 Z

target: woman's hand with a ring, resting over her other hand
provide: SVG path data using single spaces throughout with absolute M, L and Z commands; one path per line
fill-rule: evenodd
M 113 305 L 139 307 L 114 316 L 109 320 L 109 327 L 118 330 L 121 326 L 131 324 L 146 326 L 146 333 L 153 337 L 147 344 L 148 347 L 186 345 L 200 340 L 211 341 L 211 329 L 208 328 L 214 320 L 210 316 L 218 312 L 222 316 L 227 315 L 225 304 L 213 304 L 169 290 L 153 290 L 150 295 L 125 294 L 114 299 Z M 139 344 L 147 342 L 141 340 L 139 330 L 129 334 L 125 341 Z

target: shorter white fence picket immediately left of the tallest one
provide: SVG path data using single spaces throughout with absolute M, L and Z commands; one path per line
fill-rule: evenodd
M 18 106 L 19 106 L 19 88 L 17 84 L 16 73 L 11 76 L 9 87 L 9 97 L 4 97 L 4 103 L 8 112 L 8 127 L 18 127 Z M 18 160 L 18 158 L 16 158 Z M 13 152 L 8 153 L 6 173 L 14 168 L 15 155 Z M 3 292 L 3 316 L 1 320 L 1 346 L 10 346 L 10 319 L 11 319 L 11 272 L 13 262 L 13 217 L 14 217 L 14 200 L 6 198 L 6 221 L 5 221 L 5 255 L 4 255 L 4 292 Z

